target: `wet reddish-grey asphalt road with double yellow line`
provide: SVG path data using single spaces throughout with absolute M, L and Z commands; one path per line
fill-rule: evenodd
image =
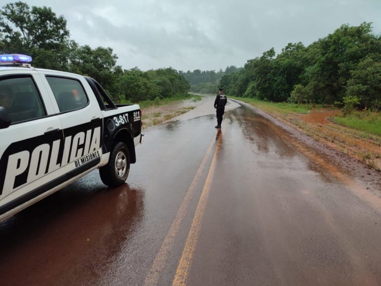
M 0 222 L 0 285 L 381 285 L 381 199 L 251 107 L 152 127 L 127 184 L 94 171 Z

